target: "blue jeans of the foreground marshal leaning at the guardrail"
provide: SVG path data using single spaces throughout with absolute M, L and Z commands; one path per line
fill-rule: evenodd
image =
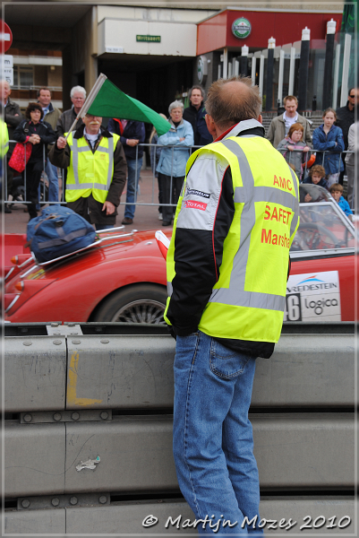
M 208 516 L 212 525 L 198 525 L 199 534 L 262 535 L 258 527 L 241 527 L 244 516 L 261 520 L 248 419 L 255 359 L 199 331 L 177 336 L 174 369 L 178 483 L 196 519 Z M 215 532 L 220 517 L 237 525 L 220 524 Z

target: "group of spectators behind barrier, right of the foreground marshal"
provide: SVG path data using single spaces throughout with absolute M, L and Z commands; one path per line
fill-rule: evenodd
M 272 119 L 267 138 L 281 152 L 299 180 L 326 188 L 347 215 L 355 207 L 355 153 L 358 152 L 358 122 L 355 108 L 359 90 L 350 88 L 345 107 L 323 111 L 321 126 L 313 130 L 308 120 L 297 112 L 293 95 L 284 99 L 285 112 Z M 348 151 L 348 153 L 346 153 Z M 312 169 L 310 168 L 312 166 Z M 343 197 L 343 177 L 347 174 L 347 202 Z M 356 183 L 358 178 L 356 178 Z M 339 187 L 338 187 L 339 186 Z M 335 187 L 335 188 L 331 188 Z M 337 200 L 338 193 L 341 195 Z M 310 202 L 312 196 L 305 196 Z

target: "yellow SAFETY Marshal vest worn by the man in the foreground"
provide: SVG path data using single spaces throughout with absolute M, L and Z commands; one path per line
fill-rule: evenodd
M 298 179 L 264 138 L 232 136 L 211 143 L 187 162 L 175 224 L 180 210 L 185 211 L 187 174 L 203 152 L 229 164 L 235 215 L 223 244 L 218 282 L 199 329 L 218 338 L 276 343 L 283 325 L 289 247 L 299 225 Z M 167 309 L 174 278 L 175 226 L 167 254 Z

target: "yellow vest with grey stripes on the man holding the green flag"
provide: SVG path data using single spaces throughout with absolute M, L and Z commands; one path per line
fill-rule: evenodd
M 67 169 L 65 199 L 75 202 L 80 197 L 91 194 L 101 204 L 107 199 L 108 189 L 114 175 L 114 152 L 120 137 L 103 136 L 96 152 L 92 153 L 84 136 L 73 138 L 71 133 L 67 143 L 71 149 L 70 166 Z

